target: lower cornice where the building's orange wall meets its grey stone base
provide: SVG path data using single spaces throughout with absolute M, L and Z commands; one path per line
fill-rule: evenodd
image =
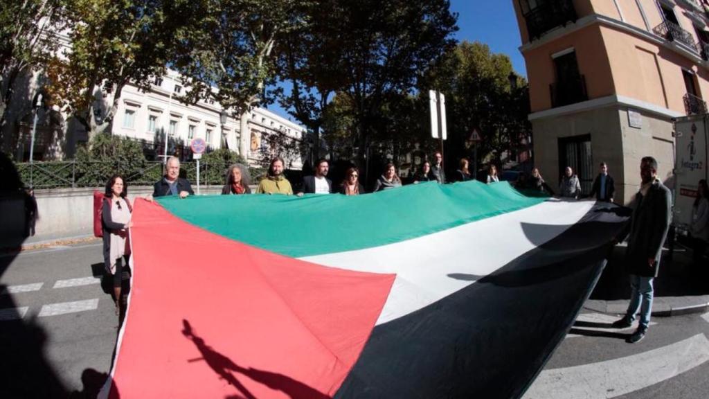
M 576 104 L 558 106 L 557 108 L 545 109 L 544 111 L 537 111 L 532 114 L 529 114 L 529 116 L 527 116 L 527 119 L 529 119 L 530 121 L 535 121 L 537 119 L 553 118 L 557 116 L 576 114 L 579 112 L 592 111 L 593 109 L 601 109 L 608 106 L 627 106 L 630 108 L 647 112 L 649 114 L 663 116 L 668 119 L 684 116 L 683 113 L 667 109 L 664 106 L 658 106 L 649 102 L 644 102 L 639 99 L 634 99 L 632 97 L 618 96 L 613 94 L 598 99 L 590 99 L 588 101 L 579 102 Z

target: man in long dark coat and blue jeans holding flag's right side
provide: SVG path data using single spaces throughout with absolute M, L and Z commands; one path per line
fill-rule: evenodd
M 630 327 L 640 307 L 640 325 L 628 337 L 630 343 L 640 341 L 647 333 L 652 312 L 652 280 L 657 277 L 662 245 L 672 217 L 671 193 L 657 178 L 657 160 L 642 158 L 640 176 L 642 185 L 631 204 L 630 235 L 625 253 L 632 294 L 625 317 L 613 323 L 616 328 Z

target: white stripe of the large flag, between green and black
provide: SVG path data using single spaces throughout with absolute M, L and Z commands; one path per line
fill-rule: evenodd
M 550 200 L 395 244 L 301 259 L 348 270 L 396 273 L 376 322 L 382 324 L 451 295 L 562 234 L 593 204 Z

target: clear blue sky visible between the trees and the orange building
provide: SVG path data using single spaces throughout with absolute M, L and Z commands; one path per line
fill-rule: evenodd
M 451 0 L 451 11 L 458 13 L 457 40 L 479 41 L 490 46 L 493 53 L 504 53 L 512 60 L 515 72 L 527 76 L 525 61 L 518 48 L 520 31 L 513 8 L 515 0 Z M 279 104 L 268 107 L 286 119 L 293 118 Z

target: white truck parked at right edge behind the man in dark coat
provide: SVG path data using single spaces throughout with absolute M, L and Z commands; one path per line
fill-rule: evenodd
M 707 179 L 707 136 L 709 114 L 677 118 L 675 132 L 674 212 L 672 224 L 676 233 L 686 235 L 692 222 L 692 206 L 697 186 Z

